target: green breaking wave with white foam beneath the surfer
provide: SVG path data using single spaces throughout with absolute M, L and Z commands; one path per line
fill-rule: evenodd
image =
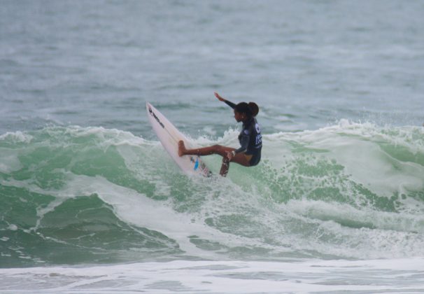
M 409 257 L 424 254 L 423 212 L 422 127 L 267 134 L 260 165 L 226 179 L 185 176 L 158 141 L 120 130 L 0 137 L 0 267 Z

